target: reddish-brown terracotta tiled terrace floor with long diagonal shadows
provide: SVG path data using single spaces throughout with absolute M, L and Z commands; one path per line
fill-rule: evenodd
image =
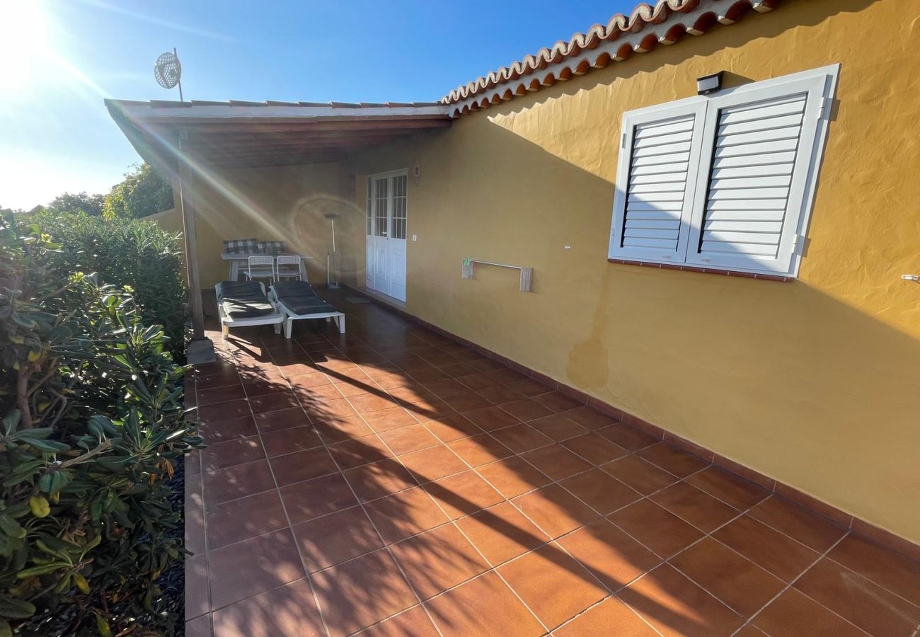
M 915 634 L 916 562 L 333 301 L 346 335 L 211 334 L 190 637 Z

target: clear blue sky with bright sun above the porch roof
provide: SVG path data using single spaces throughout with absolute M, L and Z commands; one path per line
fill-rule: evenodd
M 568 5 L 568 6 L 567 6 Z M 103 98 L 424 101 L 635 0 L 0 0 L 0 206 L 107 192 L 139 160 Z

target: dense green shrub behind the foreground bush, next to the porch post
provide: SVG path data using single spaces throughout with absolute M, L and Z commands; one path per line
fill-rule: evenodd
M 99 283 L 129 285 L 148 325 L 169 337 L 168 349 L 185 362 L 186 285 L 181 235 L 151 221 L 85 214 L 28 214 L 29 223 L 61 248 L 47 255 L 61 272 L 98 272 Z

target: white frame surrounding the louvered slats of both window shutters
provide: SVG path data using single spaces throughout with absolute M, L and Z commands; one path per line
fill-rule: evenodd
M 830 64 L 800 73 L 753 82 L 741 87 L 723 89 L 706 96 L 684 98 L 625 112 L 620 130 L 608 259 L 687 265 L 731 272 L 798 276 L 802 256 L 801 239 L 806 236 L 811 220 L 839 71 L 840 64 Z M 807 158 L 796 156 L 793 180 L 789 186 L 786 219 L 784 219 L 776 259 L 755 258 L 752 255 L 743 258 L 727 256 L 715 260 L 712 257 L 702 257 L 696 249 L 691 249 L 691 246 L 699 245 L 702 232 L 720 110 L 732 105 L 753 103 L 797 92 L 806 93 L 808 96 L 799 133 L 799 148 L 803 143 L 808 146 L 808 148 L 803 148 Z M 678 249 L 673 258 L 668 258 L 661 255 L 661 249 L 621 248 L 620 241 L 623 237 L 626 217 L 627 191 L 625 189 L 629 185 L 636 125 L 655 121 L 656 118 L 662 119 L 662 113 L 669 111 L 686 113 L 691 112 L 694 108 L 701 109 L 703 117 L 695 120 L 687 186 L 684 190 L 684 196 L 686 197 L 689 192 L 691 200 L 688 211 L 687 201 L 684 199 Z M 697 161 L 694 165 L 693 148 L 696 144 L 701 146 L 702 150 L 696 156 Z M 804 169 L 801 168 L 800 161 L 807 162 Z M 690 185 L 691 180 L 693 181 L 692 186 Z

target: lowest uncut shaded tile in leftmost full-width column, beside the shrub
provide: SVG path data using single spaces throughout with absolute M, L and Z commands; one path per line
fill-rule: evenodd
M 214 609 L 305 575 L 291 530 L 287 528 L 212 550 L 208 553 L 208 566 Z

